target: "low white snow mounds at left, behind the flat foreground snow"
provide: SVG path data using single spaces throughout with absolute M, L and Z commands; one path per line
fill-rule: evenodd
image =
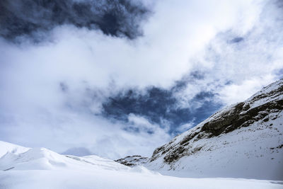
M 107 168 L 109 170 L 128 170 L 127 166 L 117 164 L 110 159 L 103 159 L 98 156 L 64 156 L 45 148 L 24 148 L 7 142 L 1 142 L 1 147 L 17 147 L 22 150 L 8 150 L 1 156 L 0 170 L 55 170 L 58 168 L 81 168 L 91 166 L 96 168 Z

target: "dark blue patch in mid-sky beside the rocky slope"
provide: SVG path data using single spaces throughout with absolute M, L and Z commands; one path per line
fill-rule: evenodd
M 127 122 L 128 116 L 134 114 L 148 119 L 153 124 L 161 125 L 161 127 L 166 121 L 170 126 L 169 132 L 178 134 L 180 125 L 189 122 L 194 122 L 194 125 L 197 125 L 221 107 L 220 103 L 213 101 L 216 94 L 201 91 L 190 101 L 190 105 L 197 108 L 180 108 L 174 93 L 186 85 L 187 81 L 182 80 L 177 81 L 175 86 L 170 89 L 153 86 L 147 88 L 145 93 L 134 88 L 129 89 L 108 98 L 108 101 L 103 103 L 103 115 L 106 118 Z M 187 104 L 187 107 L 190 105 Z M 125 130 L 139 132 L 137 127 L 129 126 L 125 127 Z

